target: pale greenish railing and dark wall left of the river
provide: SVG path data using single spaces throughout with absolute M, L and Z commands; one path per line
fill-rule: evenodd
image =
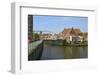
M 43 51 L 43 41 L 35 41 L 28 44 L 28 60 L 40 59 Z

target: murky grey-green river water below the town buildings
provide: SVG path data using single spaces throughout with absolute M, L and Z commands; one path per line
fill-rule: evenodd
M 41 60 L 79 59 L 88 57 L 88 48 L 44 45 Z

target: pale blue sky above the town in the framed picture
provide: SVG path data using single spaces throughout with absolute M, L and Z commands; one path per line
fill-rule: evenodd
M 88 31 L 88 17 L 78 16 L 33 16 L 33 30 L 62 32 L 64 28 L 80 28 Z

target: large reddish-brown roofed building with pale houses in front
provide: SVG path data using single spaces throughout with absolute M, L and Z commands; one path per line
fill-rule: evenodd
M 64 28 L 62 31 L 63 39 L 66 39 L 67 42 L 77 42 L 83 41 L 83 38 L 86 40 L 87 33 L 83 33 L 78 28 Z

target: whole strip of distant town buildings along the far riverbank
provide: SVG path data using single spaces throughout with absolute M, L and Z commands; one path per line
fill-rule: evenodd
M 42 40 L 66 40 L 67 42 L 82 42 L 87 41 L 87 32 L 81 32 L 79 28 L 64 28 L 64 30 L 58 34 L 46 33 L 41 34 L 40 39 Z

